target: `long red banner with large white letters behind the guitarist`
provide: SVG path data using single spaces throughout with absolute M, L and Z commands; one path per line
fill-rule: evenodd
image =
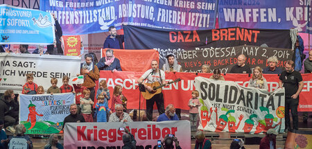
M 110 89 L 110 95 L 113 94 L 114 86 L 121 85 L 123 87 L 123 95 L 128 99 L 128 109 L 139 109 L 139 85 L 137 80 L 143 75 L 139 72 L 125 72 L 125 71 L 100 71 L 100 79 L 106 80 L 107 87 Z M 195 90 L 194 78 L 202 76 L 209 78 L 212 73 L 166 73 L 166 81 L 173 81 L 180 78 L 180 82 L 175 82 L 168 87 L 163 87 L 164 106 L 168 104 L 175 105 L 176 108 L 189 109 L 188 103 L 191 98 L 191 92 Z M 224 76 L 224 75 L 223 75 Z M 248 74 L 231 74 L 228 73 L 224 76 L 225 80 L 234 81 L 243 87 L 247 87 L 249 80 L 252 76 Z M 279 87 L 279 76 L 272 74 L 263 74 L 268 82 L 268 91 L 274 91 Z M 312 101 L 310 100 L 310 91 L 312 89 L 312 75 L 302 74 L 304 80 L 304 88 L 300 93 L 300 102 L 298 111 L 312 112 Z M 97 90 L 98 85 L 96 86 Z M 108 103 L 111 105 L 111 100 Z M 156 107 L 155 107 L 156 108 Z M 146 109 L 146 100 L 141 96 L 141 109 Z

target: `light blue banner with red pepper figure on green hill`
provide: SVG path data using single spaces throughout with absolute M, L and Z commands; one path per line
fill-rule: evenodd
M 25 125 L 26 134 L 59 133 L 74 100 L 73 93 L 19 94 L 19 123 Z

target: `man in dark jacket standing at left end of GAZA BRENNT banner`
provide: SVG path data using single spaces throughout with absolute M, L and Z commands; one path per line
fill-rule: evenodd
M 110 33 L 110 35 L 106 37 L 103 49 L 123 49 L 123 42 L 125 40 L 123 39 L 123 35 L 117 35 L 115 26 L 110 26 L 110 28 L 108 28 L 108 33 Z

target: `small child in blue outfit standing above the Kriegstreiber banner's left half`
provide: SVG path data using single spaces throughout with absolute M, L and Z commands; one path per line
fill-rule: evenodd
M 107 122 L 107 111 L 112 114 L 112 111 L 108 107 L 107 101 L 105 101 L 104 99 L 105 96 L 103 94 L 98 95 L 98 103 L 96 103 L 97 122 Z

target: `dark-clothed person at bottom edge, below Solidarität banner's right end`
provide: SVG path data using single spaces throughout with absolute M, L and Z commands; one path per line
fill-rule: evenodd
M 260 141 L 259 149 L 276 149 L 276 136 L 277 132 L 271 128 L 266 132 L 266 137 Z

